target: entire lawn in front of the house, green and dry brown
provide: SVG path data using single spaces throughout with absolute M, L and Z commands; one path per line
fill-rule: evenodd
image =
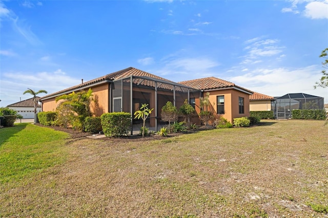
M 326 217 L 328 126 L 262 120 L 161 140 L 0 129 L 0 217 Z M 10 133 L 9 133 L 10 132 Z

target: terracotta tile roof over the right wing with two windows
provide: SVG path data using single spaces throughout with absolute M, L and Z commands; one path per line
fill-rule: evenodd
M 204 91 L 211 91 L 214 89 L 224 89 L 224 88 L 232 88 L 232 89 L 237 88 L 244 92 L 253 93 L 252 91 L 244 89 L 244 88 L 236 85 L 235 83 L 232 83 L 232 82 L 229 82 L 229 81 L 226 81 L 223 79 L 219 79 L 216 77 L 194 79 L 194 80 L 182 81 L 179 83 L 190 86 L 194 89 L 204 90 Z

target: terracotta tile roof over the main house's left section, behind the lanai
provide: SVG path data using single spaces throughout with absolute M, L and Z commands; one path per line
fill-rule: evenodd
M 84 83 L 80 83 L 80 84 L 72 86 L 68 89 L 61 90 L 61 91 L 46 95 L 46 96 L 42 97 L 41 99 L 45 99 L 45 98 L 49 98 L 49 97 L 53 97 L 53 96 L 58 96 L 58 95 L 61 95 L 61 94 L 64 94 L 64 93 L 70 93 L 70 92 L 73 92 L 73 91 L 76 91 L 76 90 L 79 90 L 79 89 L 85 89 L 86 86 L 90 86 L 90 85 L 93 85 L 93 84 L 96 84 L 96 83 L 106 82 L 106 81 L 109 81 L 109 80 L 113 81 L 113 80 L 118 80 L 118 79 L 122 79 L 122 78 L 128 78 L 129 76 L 150 77 L 150 78 L 153 78 L 155 80 L 165 81 L 165 82 L 170 83 L 170 84 L 181 85 L 179 83 L 176 83 L 176 82 L 170 81 L 168 79 L 156 76 L 154 74 L 150 74 L 150 73 L 147 73 L 145 71 L 141 71 L 141 70 L 138 70 L 136 68 L 129 67 L 129 68 L 126 68 L 124 70 L 120 70 L 120 71 L 117 71 L 117 72 L 114 72 L 114 73 L 111 73 L 111 74 L 107 74 L 107 75 L 102 76 L 102 77 L 98 77 L 96 79 L 89 80 L 89 81 L 84 82 Z M 147 85 L 147 86 L 152 86 L 152 87 L 155 86 L 154 81 L 146 80 L 146 79 L 143 80 L 142 78 L 133 79 L 133 82 L 136 83 L 136 84 L 142 84 L 142 85 Z M 160 86 L 160 88 L 170 89 L 170 85 L 168 85 L 168 84 L 163 85 L 162 84 Z

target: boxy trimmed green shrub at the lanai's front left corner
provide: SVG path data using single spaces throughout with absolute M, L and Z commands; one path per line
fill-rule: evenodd
M 107 137 L 127 135 L 131 124 L 131 114 L 126 112 L 106 113 L 100 116 L 103 132 Z

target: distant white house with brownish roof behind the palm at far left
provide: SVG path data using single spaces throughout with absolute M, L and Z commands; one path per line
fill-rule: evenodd
M 36 97 L 37 102 L 39 102 L 39 99 L 40 97 Z M 24 119 L 34 119 L 33 98 L 9 104 L 7 107 L 12 110 L 15 110 L 17 114 L 22 115 Z M 41 112 L 41 108 L 41 103 L 38 103 L 36 107 L 36 113 Z

